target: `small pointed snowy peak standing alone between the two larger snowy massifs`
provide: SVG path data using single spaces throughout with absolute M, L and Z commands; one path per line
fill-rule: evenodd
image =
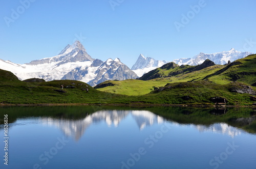
M 166 64 L 166 61 L 157 61 L 153 58 L 145 58 L 142 54 L 133 65 L 132 70 L 141 77 L 143 74 Z

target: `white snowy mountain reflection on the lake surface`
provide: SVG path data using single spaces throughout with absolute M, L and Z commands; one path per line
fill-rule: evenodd
M 138 125 L 140 130 L 147 126 L 154 124 L 162 124 L 166 121 L 164 118 L 153 114 L 147 110 L 100 110 L 96 111 L 86 118 L 81 120 L 68 120 L 68 119 L 54 119 L 54 118 L 40 118 L 42 124 L 47 126 L 55 126 L 65 133 L 66 136 L 73 137 L 78 141 L 87 128 L 93 124 L 105 122 L 109 127 L 118 127 L 120 122 L 130 115 Z M 183 126 L 177 122 L 169 121 L 172 125 Z M 232 127 L 226 123 L 216 123 L 210 126 L 187 124 L 186 126 L 195 127 L 200 132 L 214 132 L 229 135 L 231 137 L 241 134 L 240 129 Z

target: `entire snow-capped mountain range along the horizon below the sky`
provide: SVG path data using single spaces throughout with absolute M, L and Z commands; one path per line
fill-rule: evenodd
M 215 64 L 224 65 L 228 61 L 245 58 L 250 52 L 241 52 L 235 49 L 217 53 L 200 53 L 193 58 L 175 59 L 178 65 L 200 65 L 209 59 Z M 125 80 L 142 77 L 166 64 L 153 58 L 145 58 L 142 54 L 132 69 L 123 64 L 120 59 L 108 59 L 105 62 L 93 59 L 79 41 L 67 45 L 58 55 L 51 58 L 31 61 L 27 64 L 15 64 L 0 59 L 0 68 L 13 72 L 20 80 L 41 78 L 46 81 L 55 79 L 79 80 L 96 86 L 106 80 Z

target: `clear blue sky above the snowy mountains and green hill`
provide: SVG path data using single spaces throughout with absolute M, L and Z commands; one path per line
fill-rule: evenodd
M 119 58 L 130 68 L 140 53 L 173 61 L 232 47 L 256 52 L 255 0 L 31 1 L 1 1 L 0 59 L 53 57 L 74 39 L 92 58 Z

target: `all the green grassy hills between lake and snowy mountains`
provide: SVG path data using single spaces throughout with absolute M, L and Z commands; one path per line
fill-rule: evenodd
M 255 63 L 255 54 L 226 66 L 211 66 L 211 61 L 199 66 L 169 63 L 149 72 L 162 77 L 105 81 L 97 89 L 76 80 L 20 81 L 11 72 L 0 70 L 0 103 L 252 105 L 256 102 Z

